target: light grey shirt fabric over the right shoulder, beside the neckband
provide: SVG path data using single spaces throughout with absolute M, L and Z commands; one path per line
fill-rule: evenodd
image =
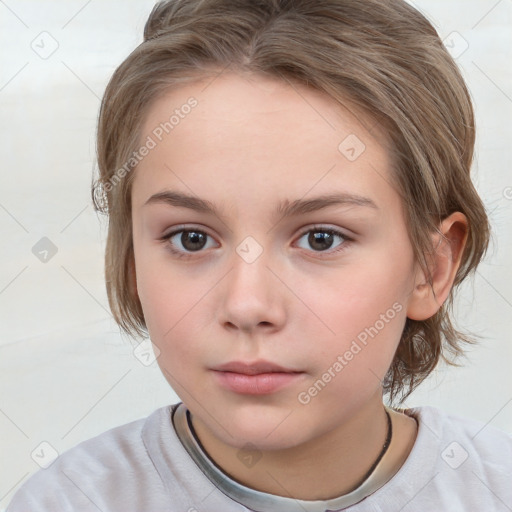
M 388 483 L 350 510 L 510 510 L 509 433 L 436 407 L 403 412 L 418 423 L 409 456 Z

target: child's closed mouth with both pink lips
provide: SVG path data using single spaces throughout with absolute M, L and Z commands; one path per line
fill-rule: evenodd
M 213 373 L 223 388 L 245 395 L 274 393 L 296 382 L 304 374 L 268 361 L 233 361 L 213 368 Z

